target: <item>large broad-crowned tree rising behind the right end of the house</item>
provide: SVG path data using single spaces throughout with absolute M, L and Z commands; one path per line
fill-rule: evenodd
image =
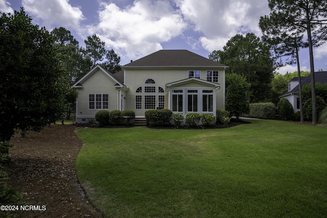
M 274 61 L 269 46 L 253 33 L 233 36 L 223 51 L 213 51 L 209 58 L 229 66 L 227 74 L 244 75 L 251 84 L 249 101 L 263 102 L 270 99 Z

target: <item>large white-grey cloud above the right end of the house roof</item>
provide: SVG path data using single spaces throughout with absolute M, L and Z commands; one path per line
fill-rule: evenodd
M 202 47 L 209 52 L 222 49 L 236 34 L 253 32 L 261 36 L 258 27 L 260 16 L 269 14 L 268 3 L 262 0 L 176 2 L 184 18 L 193 23 L 194 30 L 203 34 L 199 40 Z

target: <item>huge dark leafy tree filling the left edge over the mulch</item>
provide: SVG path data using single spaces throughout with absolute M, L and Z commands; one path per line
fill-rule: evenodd
M 40 130 L 61 112 L 69 83 L 55 40 L 22 8 L 0 17 L 0 141 L 15 129 Z

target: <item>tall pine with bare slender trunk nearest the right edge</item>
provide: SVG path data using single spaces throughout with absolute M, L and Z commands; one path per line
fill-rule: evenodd
M 321 45 L 327 35 L 327 1 L 323 0 L 268 0 L 271 13 L 269 18 L 276 29 L 284 29 L 295 35 L 306 34 L 309 47 L 311 89 L 312 89 L 312 123 L 317 123 L 316 93 L 314 78 L 313 47 Z

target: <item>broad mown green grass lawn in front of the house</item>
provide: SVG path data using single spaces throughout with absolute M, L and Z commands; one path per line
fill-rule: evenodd
M 327 128 L 81 129 L 79 181 L 106 217 L 326 217 Z

